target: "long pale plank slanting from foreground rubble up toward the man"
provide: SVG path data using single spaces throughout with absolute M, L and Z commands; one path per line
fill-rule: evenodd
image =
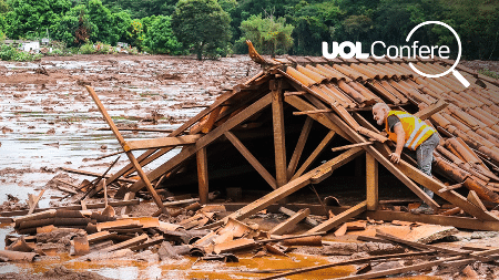
M 281 188 L 277 188 L 276 190 L 265 195 L 264 197 L 246 205 L 245 207 L 234 211 L 228 217 L 233 219 L 245 219 L 249 216 L 252 216 L 255 212 L 258 212 L 262 209 L 265 209 L 265 207 L 272 205 L 273 203 L 276 203 L 281 200 L 282 198 L 297 191 L 298 189 L 303 188 L 304 186 L 308 185 L 310 182 L 310 178 L 318 172 L 327 170 L 327 169 L 336 169 L 352 159 L 354 159 L 357 155 L 361 154 L 361 148 L 352 148 L 342 155 L 338 155 L 337 157 L 324 163 L 323 165 L 318 166 L 317 168 L 314 168 L 313 170 L 304 174 L 303 176 L 291 180 L 286 185 L 284 185 Z

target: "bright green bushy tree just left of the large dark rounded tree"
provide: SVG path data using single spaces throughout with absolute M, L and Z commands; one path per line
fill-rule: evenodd
M 157 15 L 149 23 L 144 45 L 155 53 L 179 54 L 182 44 L 173 34 L 171 17 Z

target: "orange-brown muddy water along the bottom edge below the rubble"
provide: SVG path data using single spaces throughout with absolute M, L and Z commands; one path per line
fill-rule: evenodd
M 258 270 L 294 269 L 326 265 L 324 257 L 291 255 L 285 257 L 252 258 L 241 255 L 240 262 L 223 263 L 220 261 L 202 261 L 193 257 L 182 260 L 166 260 L 162 262 L 139 262 L 126 260 L 110 260 L 95 262 L 73 262 L 68 257 L 59 256 L 53 260 L 44 260 L 34 265 L 7 266 L 6 269 L 17 269 L 10 272 L 44 272 L 63 261 L 63 266 L 75 271 L 94 271 L 99 274 L 115 279 L 258 279 L 268 273 L 257 273 Z M 196 261 L 197 260 L 197 261 Z M 343 266 L 319 271 L 307 272 L 288 279 L 329 279 L 348 276 L 355 271 L 353 266 Z

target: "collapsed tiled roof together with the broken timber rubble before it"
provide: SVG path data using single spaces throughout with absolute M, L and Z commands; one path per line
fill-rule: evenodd
M 452 267 L 450 263 L 456 267 L 481 261 L 495 266 L 497 247 L 456 249 L 427 243 L 455 234 L 454 227 L 499 231 L 496 210 L 499 204 L 499 81 L 459 68 L 471 83 L 465 89 L 454 76 L 425 79 L 407 64 L 410 61 L 427 73 L 436 73 L 452 61 L 268 59 L 248 44 L 251 56 L 262 65 L 262 72 L 244 84 L 223 91 L 212 105 L 167 137 L 124 139 L 120 134 L 122 128 L 115 126 L 98 93 L 86 86 L 130 164 L 114 174 L 108 173 L 118 159 L 104 174 L 67 169 L 96 177 L 68 190 L 78 204 L 37 209 L 41 193 L 33 197 L 29 211 L 1 212 L 1 220 L 21 216 L 12 220 L 14 228 L 18 234 L 31 236 L 9 236 L 6 239 L 9 251 L 0 250 L 0 257 L 32 260 L 37 253 L 43 253 L 43 246 L 63 239 L 74 255 L 81 256 L 78 258 L 81 261 L 130 256 L 163 260 L 176 259 L 179 255 L 237 261 L 232 252 L 255 248 L 264 255 L 287 258 L 286 246 L 296 245 L 319 245 L 323 255 L 352 257 L 309 268 L 266 271 L 277 273 L 266 279 L 406 258 L 416 260 L 377 271 L 368 271 L 363 266 L 342 279 L 385 277 L 440 265 Z M 393 144 L 371 124 L 370 110 L 377 102 L 414 113 L 436 127 L 441 142 L 434 154 L 434 177 L 419 172 L 406 155 L 398 164 L 388 159 Z M 143 152 L 135 157 L 133 151 Z M 328 183 L 334 194 L 335 182 L 328 178 L 354 159 L 365 162 L 366 166 L 365 174 L 356 170 L 356 176 L 366 185 L 365 190 L 357 189 L 363 193 L 357 196 L 363 201 L 353 207 L 308 205 L 302 209 L 298 205 L 286 204 L 288 196 L 309 185 Z M 159 167 L 145 173 L 143 167 L 152 162 L 160 163 Z M 436 215 L 414 215 L 400 207 L 384 207 L 378 196 L 378 168 L 384 170 L 380 166 L 431 206 Z M 176 197 L 175 201 L 166 201 L 172 197 L 164 188 L 176 193 L 193 185 L 198 198 L 180 200 Z M 439 198 L 428 197 L 418 185 L 431 189 Z M 268 194 L 247 205 L 208 204 L 214 196 L 208 190 L 221 186 L 241 187 L 243 191 L 257 186 Z M 104 203 L 85 199 L 102 193 Z M 110 201 L 109 194 L 112 194 Z M 138 197 L 151 198 L 157 209 L 136 215 L 147 217 L 130 214 L 134 205 L 141 204 Z M 180 205 L 189 206 L 172 209 Z M 123 208 L 115 211 L 113 207 Z M 105 209 L 95 211 L 102 208 Z M 333 211 L 329 217 L 325 217 L 327 208 Z M 289 218 L 269 230 L 247 221 L 265 215 L 262 214 L 265 209 L 277 210 Z M 352 218 L 367 221 L 352 222 Z M 285 236 L 294 232 L 301 220 L 307 224 L 306 229 L 299 235 Z M 340 237 L 349 229 L 365 229 L 367 222 L 375 226 L 380 220 L 410 229 L 401 236 L 404 238 L 390 227 L 376 231 L 375 236 L 359 235 L 356 240 L 366 241 L 361 245 L 320 239 L 333 230 Z M 421 222 L 436 226 L 421 226 Z M 408 252 L 405 248 L 414 250 Z M 369 257 L 352 256 L 360 250 L 369 251 Z M 472 269 L 468 267 L 468 270 Z

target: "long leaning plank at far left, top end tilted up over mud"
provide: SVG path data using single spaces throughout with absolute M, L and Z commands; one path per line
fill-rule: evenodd
M 111 131 L 113 132 L 114 136 L 116 137 L 120 145 L 123 147 L 123 151 L 126 153 L 126 156 L 129 157 L 130 162 L 133 164 L 133 167 L 138 172 L 139 176 L 141 177 L 142 182 L 145 184 L 145 187 L 147 188 L 149 193 L 151 193 L 151 196 L 154 199 L 154 203 L 157 205 L 157 208 L 160 208 L 164 214 L 167 214 L 166 209 L 163 206 L 163 201 L 161 200 L 160 196 L 154 190 L 153 186 L 151 185 L 151 182 L 147 178 L 147 175 L 142 169 L 142 166 L 136 160 L 135 156 L 130 151 L 130 147 L 128 146 L 126 142 L 124 141 L 123 136 L 121 136 L 120 131 L 118 131 L 118 127 L 114 125 L 113 120 L 105 111 L 104 105 L 99 100 L 99 96 L 93 91 L 93 89 L 89 85 L 85 85 L 86 91 L 90 93 L 90 95 L 93 98 L 93 102 L 99 107 L 99 111 L 101 112 L 102 116 L 104 117 L 105 122 L 110 126 Z

